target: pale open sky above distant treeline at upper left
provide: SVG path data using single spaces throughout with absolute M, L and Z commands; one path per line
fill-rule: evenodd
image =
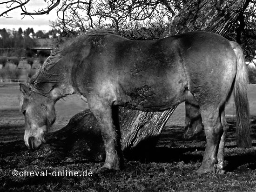
M 0 0 L 0 2 L 3 0 Z M 27 12 L 34 12 L 34 10 L 38 10 L 39 8 L 46 7 L 47 4 L 44 2 L 44 0 L 31 0 L 27 3 Z M 6 11 L 6 5 L 0 4 L 0 13 Z M 5 18 L 3 16 L 0 17 L 0 29 L 6 28 L 6 29 L 13 29 L 15 28 L 18 30 L 20 27 L 24 31 L 28 27 L 33 27 L 34 32 L 37 32 L 38 30 L 45 30 L 46 32 L 51 29 L 50 22 L 57 19 L 57 13 L 56 10 L 52 10 L 48 15 L 33 15 L 34 19 L 30 16 L 26 15 L 23 19 L 22 17 L 24 15 L 20 15 L 22 11 L 20 8 L 14 9 L 13 11 L 10 11 L 8 14 L 9 17 L 12 18 Z

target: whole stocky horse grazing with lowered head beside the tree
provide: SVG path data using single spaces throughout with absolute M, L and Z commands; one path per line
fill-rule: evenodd
M 224 106 L 232 92 L 241 139 L 250 131 L 247 71 L 235 42 L 207 32 L 189 32 L 160 40 L 128 40 L 107 31 L 90 31 L 52 53 L 28 85 L 20 85 L 25 115 L 25 144 L 45 142 L 54 123 L 54 104 L 79 93 L 101 126 L 106 159 L 119 170 L 120 138 L 112 118 L 115 106 L 156 112 L 183 101 L 198 106 L 207 139 L 197 171 L 223 173 L 226 120 Z

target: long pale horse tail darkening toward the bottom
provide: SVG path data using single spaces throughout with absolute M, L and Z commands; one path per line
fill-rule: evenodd
M 247 87 L 249 83 L 248 71 L 245 65 L 242 48 L 233 41 L 230 44 L 236 54 L 236 79 L 234 82 L 234 100 L 236 104 L 236 139 L 237 146 L 246 148 L 251 147 L 250 137 L 250 114 L 249 101 L 247 97 Z

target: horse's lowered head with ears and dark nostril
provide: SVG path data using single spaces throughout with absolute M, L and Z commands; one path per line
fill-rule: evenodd
M 29 149 L 37 149 L 45 142 L 48 128 L 55 121 L 54 93 L 41 95 L 34 93 L 30 86 L 20 84 L 23 93 L 21 111 L 25 117 L 24 141 Z

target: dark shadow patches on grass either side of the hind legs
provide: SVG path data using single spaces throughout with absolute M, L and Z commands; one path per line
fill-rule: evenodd
M 256 146 L 254 144 L 253 146 Z M 227 147 L 231 150 L 236 149 L 236 146 Z M 204 147 L 186 147 L 186 148 L 169 148 L 169 147 L 155 147 L 151 150 L 138 150 L 129 154 L 128 160 L 138 160 L 142 163 L 196 163 L 202 162 Z M 224 159 L 224 169 L 227 172 L 234 172 L 241 166 L 246 166 L 250 169 L 256 169 L 256 149 L 248 150 L 243 154 L 239 152 L 234 155 L 227 155 Z

